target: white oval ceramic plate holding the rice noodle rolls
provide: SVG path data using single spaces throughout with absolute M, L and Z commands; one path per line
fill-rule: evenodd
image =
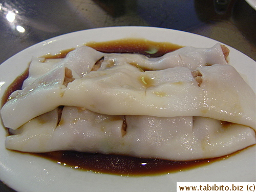
M 9 84 L 26 68 L 32 56 L 124 37 L 169 41 L 194 47 L 212 47 L 217 41 L 182 31 L 151 27 L 98 28 L 61 35 L 36 44 L 0 66 L 0 97 Z M 227 46 L 228 47 L 228 46 Z M 255 92 L 255 62 L 230 49 L 230 63 L 247 76 Z M 6 150 L 6 131 L 0 127 L 0 180 L 17 191 L 176 191 L 177 181 L 255 181 L 255 146 L 228 159 L 184 172 L 147 177 L 94 174 L 58 165 L 55 162 Z

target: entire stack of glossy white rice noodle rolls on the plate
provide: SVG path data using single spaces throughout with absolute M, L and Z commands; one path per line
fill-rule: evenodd
M 219 44 L 158 58 L 83 46 L 34 59 L 1 115 L 6 147 L 23 152 L 194 160 L 256 143 L 255 93 Z

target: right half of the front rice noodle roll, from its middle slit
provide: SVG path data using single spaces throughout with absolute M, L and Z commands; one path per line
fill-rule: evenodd
M 123 137 L 130 152 L 143 158 L 195 160 L 220 157 L 256 143 L 248 126 L 222 126 L 205 117 L 126 116 Z M 124 147 L 125 148 L 125 147 Z

